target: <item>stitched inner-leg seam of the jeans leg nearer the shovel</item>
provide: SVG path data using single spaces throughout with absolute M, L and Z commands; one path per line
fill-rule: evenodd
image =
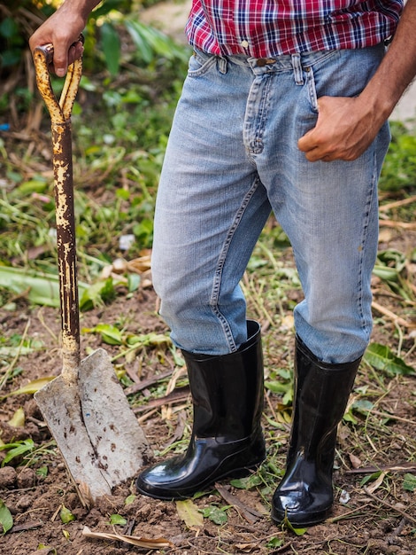
M 224 317 L 224 315 L 221 313 L 218 306 L 218 301 L 220 297 L 220 288 L 222 283 L 222 274 L 223 274 L 225 263 L 227 261 L 229 246 L 231 245 L 231 241 L 234 238 L 236 229 L 238 228 L 239 224 L 243 219 L 244 212 L 250 203 L 250 199 L 252 199 L 254 193 L 258 189 L 258 184 L 259 184 L 259 179 L 257 177 L 254 180 L 253 184 L 251 185 L 250 190 L 244 196 L 243 202 L 235 214 L 233 223 L 229 227 L 229 230 L 227 232 L 227 237 L 225 238 L 224 244 L 220 251 L 220 256 L 218 259 L 218 264 L 215 270 L 213 284 L 212 284 L 212 293 L 211 293 L 211 300 L 210 300 L 211 309 L 213 314 L 216 317 L 218 317 L 218 319 L 220 320 L 220 323 L 222 324 L 231 352 L 235 352 L 237 350 L 237 346 L 235 345 L 233 333 L 231 332 L 231 326 L 228 324 L 227 318 Z

